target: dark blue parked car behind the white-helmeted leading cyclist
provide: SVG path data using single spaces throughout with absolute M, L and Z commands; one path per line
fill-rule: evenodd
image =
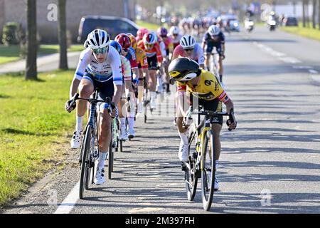
M 114 39 L 119 33 L 137 34 L 139 26 L 129 19 L 118 16 L 83 16 L 79 26 L 79 36 L 77 41 L 85 42 L 87 34 L 95 28 L 104 29 Z

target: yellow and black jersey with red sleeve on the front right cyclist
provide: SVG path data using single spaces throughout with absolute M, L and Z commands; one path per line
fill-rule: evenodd
M 213 73 L 209 71 L 201 70 L 200 82 L 197 86 L 193 86 L 190 81 L 183 82 L 177 81 L 177 91 L 188 91 L 192 95 L 202 100 L 215 100 L 218 99 L 223 103 L 226 103 L 229 98 L 225 90 L 223 90 L 219 81 Z

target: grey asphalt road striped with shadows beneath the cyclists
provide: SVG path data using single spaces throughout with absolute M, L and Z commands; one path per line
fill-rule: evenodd
M 210 212 L 188 202 L 178 161 L 173 95 L 117 152 L 114 178 L 78 199 L 78 151 L 6 213 L 319 213 L 320 42 L 267 28 L 227 36 L 225 87 L 238 128 L 221 133 L 220 190 Z M 174 88 L 171 88 L 174 90 Z M 66 114 L 68 115 L 68 114 Z M 74 114 L 73 114 L 74 115 Z M 71 192 L 71 193 L 70 193 Z

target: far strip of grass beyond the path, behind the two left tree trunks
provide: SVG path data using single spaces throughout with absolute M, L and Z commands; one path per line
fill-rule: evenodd
M 68 51 L 82 51 L 83 45 L 76 44 L 68 48 Z M 52 53 L 58 53 L 58 45 L 41 45 L 38 51 L 38 56 L 48 55 Z M 20 59 L 20 46 L 4 46 L 0 45 L 0 64 L 9 63 L 11 61 L 16 61 Z

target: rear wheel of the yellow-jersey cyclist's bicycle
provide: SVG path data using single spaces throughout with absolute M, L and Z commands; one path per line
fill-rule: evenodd
M 197 190 L 197 170 L 196 170 L 196 127 L 191 125 L 188 133 L 188 154 L 189 160 L 186 162 L 184 180 L 186 182 L 186 193 L 189 201 L 193 201 Z

